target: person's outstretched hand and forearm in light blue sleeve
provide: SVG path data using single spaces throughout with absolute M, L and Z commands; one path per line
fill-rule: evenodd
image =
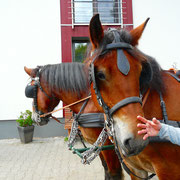
M 161 139 L 167 139 L 173 144 L 180 145 L 180 128 L 175 128 L 167 124 L 161 124 L 156 118 L 149 121 L 141 116 L 137 117 L 142 123 L 138 123 L 137 127 L 142 128 L 138 134 L 144 134 L 143 139 L 146 140 L 150 136 L 159 136 Z

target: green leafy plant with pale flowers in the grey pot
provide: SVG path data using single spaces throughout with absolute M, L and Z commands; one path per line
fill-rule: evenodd
M 32 126 L 32 124 L 34 123 L 32 120 L 32 112 L 30 110 L 21 112 L 16 122 L 18 122 L 19 126 L 21 127 Z

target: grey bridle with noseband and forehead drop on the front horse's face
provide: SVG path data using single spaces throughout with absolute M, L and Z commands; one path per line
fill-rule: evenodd
M 114 31 L 113 33 L 114 33 L 114 37 L 118 36 L 117 32 Z M 115 42 L 106 45 L 106 47 L 102 50 L 102 53 L 99 56 L 105 54 L 109 50 L 117 49 L 117 66 L 118 66 L 118 69 L 123 75 L 128 75 L 129 70 L 130 70 L 130 64 L 129 64 L 128 59 L 124 55 L 123 49 L 133 49 L 133 47 L 130 44 L 125 43 L 125 42 L 117 42 L 117 41 L 119 41 L 117 39 L 119 39 L 119 38 L 115 38 L 115 40 L 114 40 Z M 107 106 L 107 104 L 104 102 L 104 100 L 101 96 L 101 93 L 98 89 L 97 83 L 96 83 L 94 61 L 97 58 L 98 57 L 96 56 L 90 64 L 90 71 L 89 71 L 90 81 L 93 82 L 93 89 L 95 91 L 97 101 L 98 101 L 99 105 L 103 108 L 103 110 L 106 114 L 107 120 L 106 120 L 105 124 L 106 124 L 106 128 L 109 132 L 109 135 L 114 136 L 113 118 L 112 118 L 113 114 L 118 109 L 120 109 L 124 106 L 127 106 L 128 104 L 131 104 L 131 103 L 140 103 L 142 105 L 142 100 L 138 96 L 127 97 L 127 98 L 119 101 L 112 108 L 109 108 Z

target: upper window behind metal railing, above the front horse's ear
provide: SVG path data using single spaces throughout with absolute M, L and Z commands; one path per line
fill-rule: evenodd
M 120 23 L 121 0 L 73 0 L 74 24 L 89 23 L 92 16 L 100 14 L 102 23 Z

